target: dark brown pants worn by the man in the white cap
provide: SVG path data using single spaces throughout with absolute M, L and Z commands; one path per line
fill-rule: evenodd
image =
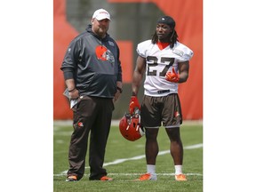
M 107 175 L 104 169 L 104 156 L 111 125 L 114 104 L 112 99 L 80 97 L 73 108 L 73 128 L 69 145 L 69 175 L 76 175 L 77 180 L 84 176 L 85 156 L 89 146 L 89 180 L 100 180 Z

